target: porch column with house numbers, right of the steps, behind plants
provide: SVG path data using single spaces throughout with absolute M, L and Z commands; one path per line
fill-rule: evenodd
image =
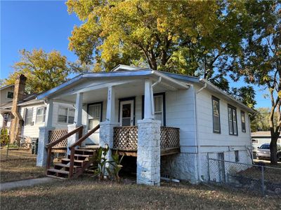
M 120 123 L 115 122 L 115 90 L 114 87 L 108 87 L 106 120 L 100 123 L 100 146 L 105 147 L 105 144 L 107 144 L 110 148 L 105 156 L 107 160 L 112 160 L 113 129 L 118 126 L 120 126 Z M 107 165 L 107 167 L 110 167 L 110 165 Z

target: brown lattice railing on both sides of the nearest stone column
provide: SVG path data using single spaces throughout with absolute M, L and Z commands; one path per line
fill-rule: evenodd
M 138 127 L 115 127 L 113 134 L 113 148 L 119 151 L 137 151 Z M 179 148 L 180 129 L 176 127 L 164 127 L 160 129 L 160 148 Z

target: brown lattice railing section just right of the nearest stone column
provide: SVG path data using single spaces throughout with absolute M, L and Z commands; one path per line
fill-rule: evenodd
M 178 148 L 180 147 L 180 129 L 177 127 L 161 127 L 160 148 Z

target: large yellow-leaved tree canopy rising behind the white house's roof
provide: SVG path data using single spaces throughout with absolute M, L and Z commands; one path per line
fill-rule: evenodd
M 240 53 L 244 3 L 240 1 L 67 1 L 83 21 L 70 50 L 96 71 L 117 64 L 150 66 L 211 78 Z M 224 76 L 222 74 L 221 76 Z

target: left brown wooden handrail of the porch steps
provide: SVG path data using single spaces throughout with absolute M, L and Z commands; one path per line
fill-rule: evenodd
M 67 139 L 68 137 L 71 137 L 73 134 L 76 134 L 78 132 L 79 138 L 82 137 L 83 134 L 83 126 L 77 127 L 76 129 L 72 130 L 71 132 L 63 135 L 63 137 L 60 137 L 58 140 L 52 141 L 49 144 L 46 144 L 46 149 L 47 149 L 47 164 L 46 164 L 46 169 L 50 169 L 51 167 L 51 153 L 52 153 L 52 148 L 60 144 L 63 140 Z

